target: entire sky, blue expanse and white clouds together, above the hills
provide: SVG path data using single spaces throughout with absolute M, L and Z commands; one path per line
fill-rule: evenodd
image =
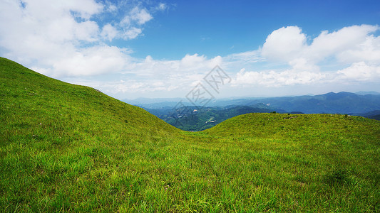
M 0 56 L 118 99 L 380 92 L 380 1 L 0 0 Z

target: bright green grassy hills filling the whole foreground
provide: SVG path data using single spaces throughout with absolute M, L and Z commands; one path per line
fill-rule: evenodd
M 1 212 L 379 212 L 379 138 L 330 114 L 180 131 L 0 59 Z

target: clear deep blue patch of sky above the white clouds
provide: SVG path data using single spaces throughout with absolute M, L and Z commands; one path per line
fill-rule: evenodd
M 145 28 L 145 36 L 122 45 L 142 58 L 175 60 L 195 53 L 215 57 L 255 50 L 269 33 L 283 26 L 299 26 L 316 37 L 322 30 L 376 25 L 380 20 L 376 1 L 176 2 L 167 1 L 169 11 L 157 14 Z

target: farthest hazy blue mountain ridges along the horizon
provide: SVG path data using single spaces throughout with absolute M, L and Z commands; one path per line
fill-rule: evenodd
M 282 109 L 282 111 L 287 112 L 300 111 L 305 114 L 363 114 L 368 111 L 380 110 L 380 94 L 368 94 L 376 92 L 364 93 L 367 94 L 329 92 L 314 96 L 220 99 L 211 102 L 206 107 L 237 107 L 265 104 L 272 109 Z M 178 102 L 150 102 L 149 104 L 135 105 L 149 109 L 162 109 L 164 107 L 175 107 L 176 104 Z M 189 102 L 184 102 L 184 104 L 192 105 Z

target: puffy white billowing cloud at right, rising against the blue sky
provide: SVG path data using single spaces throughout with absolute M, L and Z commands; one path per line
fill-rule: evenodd
M 379 29 L 379 26 L 361 25 L 344 27 L 332 33 L 322 31 L 308 45 L 307 35 L 302 33 L 301 28 L 283 27 L 268 35 L 261 53 L 263 57 L 277 62 L 303 58 L 315 64 L 329 57 L 337 58 L 339 62 L 358 62 L 354 57 L 358 55 L 361 60 L 377 60 L 380 38 L 371 33 Z

